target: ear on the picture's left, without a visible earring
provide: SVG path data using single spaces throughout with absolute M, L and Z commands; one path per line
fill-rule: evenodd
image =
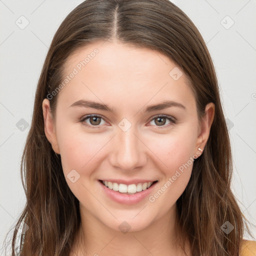
M 50 111 L 50 102 L 47 98 L 42 101 L 42 112 L 44 120 L 44 133 L 55 153 L 60 154 L 55 132 L 55 125 Z

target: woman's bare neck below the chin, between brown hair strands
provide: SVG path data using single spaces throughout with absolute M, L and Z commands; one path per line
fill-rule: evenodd
M 70 255 L 182 255 L 177 238 L 176 204 L 146 228 L 126 233 L 104 225 L 81 205 L 80 214 L 75 253 Z M 187 243 L 185 248 L 188 253 Z

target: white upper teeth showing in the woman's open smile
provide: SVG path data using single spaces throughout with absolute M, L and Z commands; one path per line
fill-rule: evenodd
M 110 182 L 106 180 L 100 180 L 99 181 L 106 186 L 107 188 L 118 191 L 120 193 L 124 194 L 135 194 L 137 192 L 140 192 L 142 190 L 148 189 L 152 184 L 156 183 L 158 180 L 155 180 L 153 182 L 140 182 L 140 183 L 134 183 L 134 184 L 123 184 L 123 183 L 116 183 L 116 182 Z

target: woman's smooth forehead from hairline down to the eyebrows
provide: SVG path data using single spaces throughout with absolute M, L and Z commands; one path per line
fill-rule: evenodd
M 172 71 L 174 70 L 174 71 Z M 119 42 L 95 42 L 70 55 L 64 74 L 75 75 L 60 91 L 65 102 L 82 98 L 110 106 L 176 100 L 194 108 L 185 74 L 166 55 Z M 178 79 L 173 78 L 173 72 Z M 69 104 L 69 105 L 70 105 Z

